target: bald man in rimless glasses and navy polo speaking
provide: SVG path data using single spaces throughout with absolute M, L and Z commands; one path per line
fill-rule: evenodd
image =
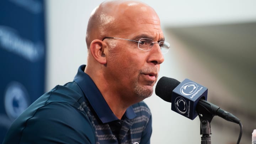
M 149 144 L 153 93 L 164 42 L 155 11 L 138 1 L 105 1 L 92 12 L 87 65 L 18 117 L 4 144 Z

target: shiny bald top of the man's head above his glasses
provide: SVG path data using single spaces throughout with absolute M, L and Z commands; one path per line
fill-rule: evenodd
M 145 18 L 149 16 L 150 18 Z M 153 8 L 143 2 L 134 0 L 108 0 L 102 2 L 92 11 L 87 26 L 87 48 L 94 39 L 102 40 L 104 37 L 118 37 L 129 34 L 139 23 L 155 21 L 160 25 L 159 17 Z

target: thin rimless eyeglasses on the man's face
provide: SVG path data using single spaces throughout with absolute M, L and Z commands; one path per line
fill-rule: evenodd
M 165 42 L 165 41 L 161 41 L 161 42 L 154 42 L 153 39 L 150 38 L 141 38 L 139 39 L 139 41 L 134 41 L 134 40 L 130 40 L 130 39 L 124 39 L 124 38 L 116 38 L 116 37 L 105 37 L 102 39 L 102 41 L 106 38 L 114 38 L 114 39 L 123 39 L 123 40 L 127 40 L 127 41 L 133 41 L 133 42 L 137 42 L 138 43 L 138 48 L 144 51 L 149 51 L 152 49 L 152 47 L 154 46 L 155 43 L 158 43 L 161 49 L 161 52 L 167 53 L 169 48 L 170 48 L 170 44 Z

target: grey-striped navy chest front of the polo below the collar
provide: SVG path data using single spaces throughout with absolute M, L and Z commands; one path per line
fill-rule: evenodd
M 78 109 L 87 114 L 95 128 L 96 144 L 140 144 L 143 132 L 151 120 L 151 112 L 144 102 L 139 102 L 132 107 L 137 117 L 134 119 L 123 117 L 113 122 L 116 125 L 121 124 L 118 135 L 112 132 L 112 129 L 115 130 L 118 126 L 102 123 L 88 101 L 82 102 Z

